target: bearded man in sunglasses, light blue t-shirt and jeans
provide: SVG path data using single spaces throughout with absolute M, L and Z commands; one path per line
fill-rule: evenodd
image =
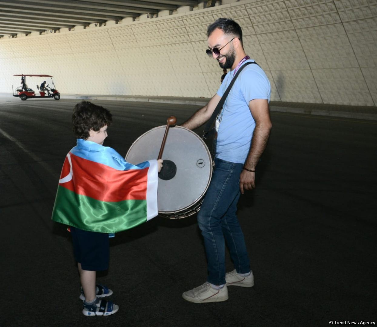
M 208 26 L 207 54 L 223 69 L 231 69 L 218 92 L 183 127 L 203 125 L 219 103 L 236 71 L 250 60 L 242 46 L 242 29 L 233 20 L 219 18 Z M 254 285 L 244 235 L 236 216 L 240 193 L 255 188 L 256 165 L 272 127 L 268 102 L 271 87 L 264 71 L 249 64 L 236 79 L 216 120 L 218 131 L 215 170 L 201 209 L 198 225 L 204 237 L 208 278 L 203 285 L 184 292 L 194 303 L 228 299 L 227 286 Z M 225 240 L 234 270 L 225 274 Z

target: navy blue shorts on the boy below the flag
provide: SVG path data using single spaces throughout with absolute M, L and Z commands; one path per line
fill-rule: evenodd
M 83 231 L 70 227 L 75 260 L 84 270 L 101 271 L 109 268 L 109 234 Z

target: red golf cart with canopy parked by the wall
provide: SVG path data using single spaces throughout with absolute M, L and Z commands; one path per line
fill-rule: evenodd
M 24 74 L 17 74 L 13 76 L 21 76 L 21 86 L 17 87 L 15 90 L 16 94 L 14 94 L 13 85 L 12 85 L 12 92 L 13 96 L 18 96 L 21 100 L 31 99 L 31 98 L 54 98 L 55 100 L 60 99 L 60 93 L 57 89 L 55 89 L 54 81 L 52 80 L 51 75 L 24 75 Z M 41 84 L 41 88 L 37 85 L 37 93 L 31 88 L 28 87 L 26 84 L 26 76 L 28 77 L 50 77 L 52 81 L 52 85 L 54 88 L 49 87 L 49 84 L 45 84 L 44 82 Z M 43 87 L 43 84 L 44 87 Z M 44 92 L 47 91 L 47 94 Z

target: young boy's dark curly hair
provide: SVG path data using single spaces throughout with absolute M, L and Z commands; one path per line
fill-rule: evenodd
M 112 123 L 112 114 L 100 105 L 81 101 L 75 105 L 72 115 L 73 131 L 78 139 L 89 138 L 89 131 L 99 131 Z

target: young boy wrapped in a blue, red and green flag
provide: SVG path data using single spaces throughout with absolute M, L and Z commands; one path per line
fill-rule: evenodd
M 112 123 L 109 110 L 82 101 L 72 115 L 77 145 L 61 171 L 52 220 L 70 226 L 86 316 L 112 315 L 119 306 L 100 298 L 112 290 L 96 285 L 96 272 L 109 266 L 109 234 L 155 217 L 162 160 L 126 162 L 102 144 Z

